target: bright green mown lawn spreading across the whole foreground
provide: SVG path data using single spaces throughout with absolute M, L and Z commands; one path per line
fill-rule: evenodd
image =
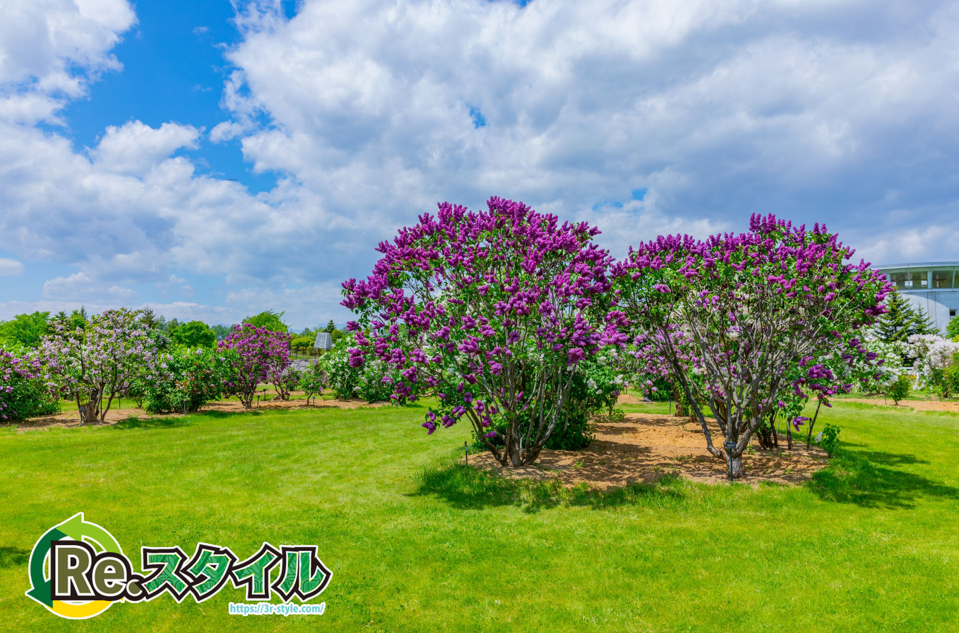
M 595 495 L 456 466 L 467 427 L 427 436 L 423 412 L 0 430 L 0 630 L 959 628 L 959 415 L 840 402 L 820 424 L 842 427 L 842 453 L 807 486 Z M 24 597 L 27 557 L 78 511 L 137 564 L 141 544 L 317 544 L 326 613 L 228 616 L 227 586 L 60 620 Z

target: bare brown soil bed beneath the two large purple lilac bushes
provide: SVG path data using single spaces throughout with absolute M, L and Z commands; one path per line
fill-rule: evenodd
M 718 426 L 711 425 L 710 431 L 713 442 L 721 438 Z M 754 445 L 754 454 L 743 454 L 744 482 L 800 483 L 828 461 L 826 452 L 818 447 L 807 449 L 805 442 L 794 441 L 793 450 L 786 451 L 785 437 L 781 442 L 782 451 L 766 451 Z M 729 481 L 728 462 L 707 453 L 698 424 L 655 413 L 627 413 L 620 423 L 598 422 L 596 441 L 586 449 L 544 450 L 535 465 L 503 468 L 490 453 L 470 456 L 470 460 L 505 477 L 558 479 L 568 487 L 585 481 L 600 490 L 655 481 L 668 474 L 706 483 Z

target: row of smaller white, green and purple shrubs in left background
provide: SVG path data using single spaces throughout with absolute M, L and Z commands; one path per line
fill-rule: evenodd
M 260 383 L 273 383 L 283 398 L 300 385 L 285 333 L 245 323 L 217 348 L 172 347 L 140 316 L 120 309 L 82 323 L 57 319 L 38 349 L 0 349 L 0 419 L 57 410 L 61 397 L 77 402 L 84 421 L 103 421 L 124 396 L 151 412 L 198 410 L 232 394 L 249 407 Z

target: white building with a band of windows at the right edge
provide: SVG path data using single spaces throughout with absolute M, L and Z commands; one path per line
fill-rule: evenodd
M 945 334 L 950 319 L 959 309 L 959 262 L 921 262 L 877 266 L 886 279 L 896 284 L 902 296 L 922 308 Z

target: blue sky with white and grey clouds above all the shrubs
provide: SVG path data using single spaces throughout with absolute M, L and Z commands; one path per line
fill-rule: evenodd
M 618 256 L 773 212 L 959 259 L 954 3 L 8 4 L 0 318 L 344 321 L 379 241 L 493 195 Z

